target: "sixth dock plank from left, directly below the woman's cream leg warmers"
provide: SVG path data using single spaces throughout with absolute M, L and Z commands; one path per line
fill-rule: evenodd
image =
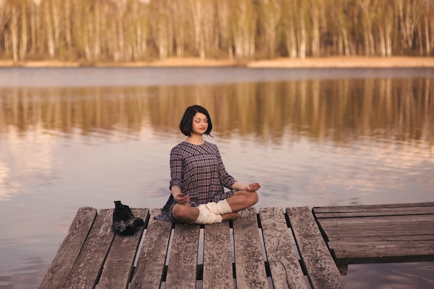
M 234 288 L 231 252 L 229 221 L 205 225 L 202 288 Z

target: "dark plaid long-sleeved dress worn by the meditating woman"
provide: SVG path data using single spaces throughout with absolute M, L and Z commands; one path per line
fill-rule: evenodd
M 197 207 L 207 202 L 218 202 L 234 195 L 232 188 L 236 182 L 223 165 L 220 152 L 214 143 L 205 141 L 200 146 L 182 141 L 171 150 L 171 182 L 179 186 L 182 193 L 190 196 L 190 204 Z M 173 221 L 172 208 L 176 204 L 171 194 L 162 209 L 155 216 L 157 220 Z

